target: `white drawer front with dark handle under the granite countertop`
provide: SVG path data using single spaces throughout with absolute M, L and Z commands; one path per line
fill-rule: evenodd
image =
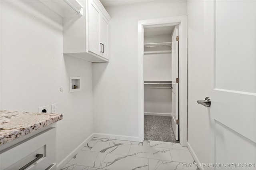
M 0 154 L 1 170 L 19 170 L 36 159 L 26 170 L 45 170 L 55 162 L 56 130 L 49 128 L 14 146 L 6 148 Z

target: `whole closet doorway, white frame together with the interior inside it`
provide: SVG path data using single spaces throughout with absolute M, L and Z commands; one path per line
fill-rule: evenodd
M 187 146 L 186 27 L 186 16 L 138 22 L 140 142 L 146 139 Z

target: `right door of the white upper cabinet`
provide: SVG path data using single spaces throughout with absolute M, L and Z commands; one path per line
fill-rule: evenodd
M 101 56 L 108 59 L 108 20 L 104 15 L 100 18 L 100 33 Z

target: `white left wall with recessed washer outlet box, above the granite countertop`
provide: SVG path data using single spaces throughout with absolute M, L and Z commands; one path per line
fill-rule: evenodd
M 69 76 L 82 91 L 69 92 Z M 60 87 L 64 91 L 60 92 Z M 92 63 L 63 56 L 62 18 L 39 1 L 1 1 L 1 109 L 57 103 L 57 163 L 93 132 Z

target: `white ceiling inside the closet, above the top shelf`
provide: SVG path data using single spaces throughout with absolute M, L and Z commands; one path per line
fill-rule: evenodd
M 144 36 L 158 36 L 172 34 L 175 26 L 144 28 Z

